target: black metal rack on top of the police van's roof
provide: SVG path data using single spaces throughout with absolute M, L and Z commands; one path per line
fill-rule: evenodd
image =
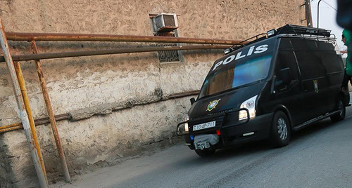
M 330 37 L 331 30 L 315 28 L 315 27 L 304 27 L 299 25 L 285 25 L 277 29 L 277 34 L 308 34 L 317 36 Z

